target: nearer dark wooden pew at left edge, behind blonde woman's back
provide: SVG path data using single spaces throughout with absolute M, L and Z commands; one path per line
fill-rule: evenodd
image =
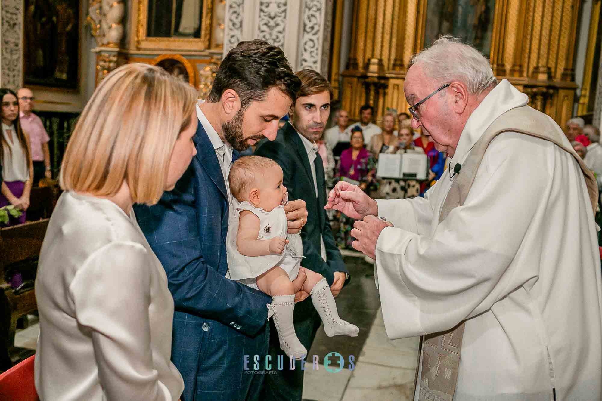
M 17 319 L 34 312 L 37 260 L 49 219 L 0 229 L 0 371 L 6 370 L 8 349 L 14 344 Z M 18 289 L 7 283 L 7 273 L 18 270 L 24 282 Z

